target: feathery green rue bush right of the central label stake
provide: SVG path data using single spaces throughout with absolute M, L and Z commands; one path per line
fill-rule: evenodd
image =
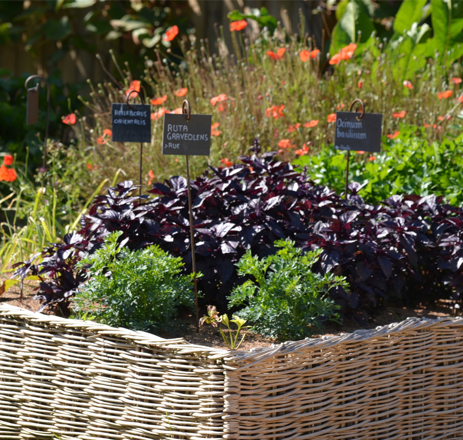
M 238 274 L 252 279 L 233 289 L 229 306 L 245 306 L 237 315 L 252 332 L 280 340 L 300 339 L 338 322 L 338 306 L 328 297 L 335 286 L 347 287 L 344 277 L 311 272 L 321 250 L 303 254 L 294 242 L 277 240 L 275 255 L 259 260 L 250 251 L 239 260 Z

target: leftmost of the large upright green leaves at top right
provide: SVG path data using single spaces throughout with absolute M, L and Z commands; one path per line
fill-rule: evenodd
M 374 30 L 375 26 L 370 19 L 365 3 L 360 0 L 351 0 L 345 8 L 343 16 L 334 26 L 330 53 L 334 55 L 349 43 L 357 43 L 359 31 L 361 32 L 360 43 L 365 43 Z

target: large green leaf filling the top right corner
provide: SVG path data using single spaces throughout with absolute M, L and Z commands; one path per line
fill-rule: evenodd
M 463 1 L 433 0 L 431 5 L 434 37 L 427 55 L 437 51 L 438 60 L 448 64 L 463 56 Z

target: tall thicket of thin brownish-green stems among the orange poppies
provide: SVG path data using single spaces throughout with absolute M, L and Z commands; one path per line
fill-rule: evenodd
M 91 99 L 86 104 L 93 114 L 94 125 L 81 118 L 77 130 L 81 143 L 92 146 L 88 160 L 99 167 L 91 173 L 102 178 L 122 168 L 129 178 L 138 181 L 139 144 L 112 143 L 109 139 L 103 145 L 97 143 L 102 131 L 111 127 L 111 102 L 124 102 L 125 90 L 134 79 L 142 83 L 143 98 L 137 98 L 138 102 L 149 103 L 153 97 L 167 95 L 162 105 L 152 106 L 153 113 L 163 106 L 171 111 L 179 108 L 187 98 L 194 113 L 212 113 L 213 123 L 219 123 L 217 130 L 221 133 L 213 136 L 211 155 L 197 156 L 190 161 L 196 175 L 204 172 L 208 164 L 220 165 L 221 159 L 236 161 L 256 136 L 264 149 L 282 150 L 284 159 L 292 160 L 294 151 L 308 142 L 311 151 L 317 152 L 333 141 L 334 124 L 327 122 L 327 115 L 343 105 L 344 110 L 348 110 L 355 98 L 364 100 L 367 112 L 383 113 L 384 134 L 396 130 L 399 121 L 418 126 L 430 124 L 427 136 L 433 140 L 439 139 L 449 124 L 438 121 L 438 116 L 457 104 L 461 85 L 453 84 L 450 77 L 461 76 L 461 64 L 456 63 L 448 70 L 430 62 L 423 71 L 409 78 L 414 87 L 410 90 L 401 81 L 394 80 L 397 60 L 379 38 L 372 38 L 351 60 L 326 69 L 327 60 L 320 54 L 313 60 L 301 61 L 300 50 L 312 49 L 310 38 L 285 37 L 282 30 L 279 35 L 281 38 L 263 33 L 251 42 L 233 32 L 232 54 L 211 55 L 207 43 L 202 42 L 199 49 L 184 48 L 184 56 L 177 62 L 169 62 L 169 54 L 155 51 L 145 57 L 141 78 L 133 78 L 128 65 L 124 71 L 116 69 L 120 72 L 117 81 L 124 90 L 116 87 L 114 81 L 92 86 Z M 219 45 L 221 43 L 219 38 Z M 266 53 L 281 47 L 286 51 L 279 61 Z M 184 97 L 175 96 L 174 91 L 181 87 L 188 88 L 188 93 Z M 438 99 L 438 92 L 445 89 L 453 90 L 452 97 Z M 212 105 L 211 99 L 220 93 L 225 93 L 228 99 Z M 223 111 L 219 110 L 219 104 Z M 272 105 L 284 105 L 281 118 L 266 116 L 266 110 Z M 395 119 L 392 114 L 401 110 L 407 112 L 405 118 Z M 304 127 L 304 123 L 313 119 L 319 120 L 317 126 Z M 144 149 L 145 183 L 150 169 L 156 180 L 185 174 L 183 156 L 161 155 L 162 123 L 163 118 L 152 121 L 151 143 Z M 290 125 L 298 123 L 299 128 L 291 130 Z M 433 130 L 432 124 L 441 125 L 442 132 Z M 288 139 L 291 147 L 281 148 L 278 144 L 282 139 Z

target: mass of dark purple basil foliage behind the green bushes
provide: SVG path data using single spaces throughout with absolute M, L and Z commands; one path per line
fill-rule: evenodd
M 233 287 L 243 282 L 236 263 L 247 249 L 265 257 L 274 242 L 290 238 L 303 249 L 322 248 L 313 270 L 344 275 L 350 288 L 330 291 L 345 314 L 366 322 L 385 300 L 413 303 L 452 297 L 463 291 L 463 211 L 434 195 L 394 195 L 380 205 L 358 196 L 349 185 L 346 201 L 308 180 L 275 152 L 260 155 L 257 141 L 242 164 L 210 167 L 191 182 L 198 280 L 203 304 L 225 310 Z M 181 256 L 191 271 L 187 181 L 180 176 L 155 183 L 139 198 L 131 181 L 95 198 L 81 229 L 51 244 L 40 265 L 25 262 L 17 271 L 44 277 L 37 297 L 47 305 L 69 306 L 85 280 L 75 263 L 99 248 L 106 235 L 122 231 L 132 250 L 158 244 Z

